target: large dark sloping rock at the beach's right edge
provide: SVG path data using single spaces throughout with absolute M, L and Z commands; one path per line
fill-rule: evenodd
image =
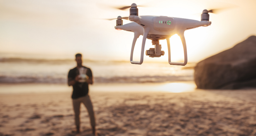
M 200 89 L 256 87 L 256 36 L 199 62 L 194 78 Z

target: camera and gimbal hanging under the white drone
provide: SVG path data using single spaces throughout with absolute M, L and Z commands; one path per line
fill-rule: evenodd
M 165 55 L 165 51 L 161 51 L 162 47 L 159 45 L 159 40 L 152 40 L 152 45 L 155 45 L 155 48 L 150 48 L 146 50 L 146 55 L 149 57 L 161 57 Z

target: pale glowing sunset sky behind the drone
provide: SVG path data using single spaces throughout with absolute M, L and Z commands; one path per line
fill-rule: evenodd
M 0 0 L 0 57 L 73 58 L 129 61 L 133 33 L 114 29 L 117 16 L 128 17 L 129 9 L 115 6 L 143 5 L 139 16 L 169 16 L 200 20 L 204 9 L 210 13 L 211 26 L 185 31 L 188 63 L 232 48 L 256 35 L 256 0 Z M 129 23 L 124 20 L 124 24 Z M 139 60 L 142 36 L 134 51 Z M 170 38 L 172 61 L 182 61 L 179 36 Z M 166 40 L 160 40 L 166 52 L 160 58 L 144 55 L 144 61 L 168 62 Z M 153 48 L 146 40 L 145 50 Z

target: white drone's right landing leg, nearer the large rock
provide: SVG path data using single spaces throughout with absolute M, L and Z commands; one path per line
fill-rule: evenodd
M 168 61 L 170 65 L 183 65 L 185 66 L 187 64 L 187 46 L 186 46 L 186 40 L 184 37 L 184 34 L 179 35 L 182 41 L 183 50 L 184 50 L 184 63 L 183 62 L 171 62 L 171 48 L 170 48 L 170 38 L 166 38 L 167 40 L 167 46 L 168 46 Z

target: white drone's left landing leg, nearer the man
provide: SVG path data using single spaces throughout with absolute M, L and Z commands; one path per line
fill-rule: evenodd
M 144 56 L 144 49 L 145 49 L 147 34 L 148 34 L 148 32 L 144 32 L 144 34 L 143 34 L 142 45 L 141 45 L 141 53 L 140 53 L 140 61 L 138 62 L 138 61 L 132 61 L 133 60 L 132 58 L 133 58 L 134 46 L 135 46 L 135 43 L 136 43 L 136 41 L 139 37 L 139 35 L 134 33 L 134 38 L 133 38 L 132 47 L 131 47 L 131 56 L 130 56 L 131 64 L 142 64 L 143 63 L 143 56 Z

